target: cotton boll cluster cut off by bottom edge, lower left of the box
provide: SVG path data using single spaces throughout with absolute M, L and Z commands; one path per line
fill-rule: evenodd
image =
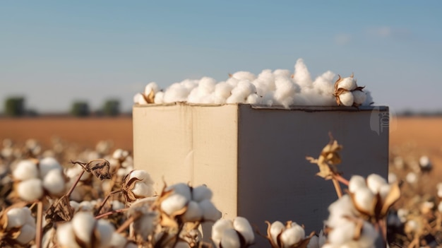
M 56 238 L 61 247 L 133 247 L 125 238 L 114 232 L 106 220 L 95 220 L 90 212 L 78 212 L 72 220 L 59 225 Z M 120 237 L 121 236 L 121 237 Z

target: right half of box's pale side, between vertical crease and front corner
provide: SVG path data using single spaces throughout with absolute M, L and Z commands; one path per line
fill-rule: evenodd
M 193 184 L 213 190 L 223 216 L 237 215 L 237 105 L 193 107 Z

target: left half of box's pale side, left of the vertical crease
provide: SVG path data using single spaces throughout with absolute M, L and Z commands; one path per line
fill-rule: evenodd
M 146 170 L 160 193 L 192 178 L 192 114 L 187 105 L 133 107 L 133 163 Z

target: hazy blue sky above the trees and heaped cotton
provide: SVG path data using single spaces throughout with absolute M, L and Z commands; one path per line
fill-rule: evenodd
M 0 104 L 131 110 L 150 81 L 354 72 L 378 105 L 442 109 L 442 1 L 1 1 Z M 1 107 L 2 108 L 2 107 Z

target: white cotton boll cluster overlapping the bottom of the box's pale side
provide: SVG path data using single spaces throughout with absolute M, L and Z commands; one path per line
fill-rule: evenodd
M 160 200 L 162 213 L 179 216 L 183 222 L 215 221 L 221 218 L 220 211 L 213 205 L 212 191 L 205 185 L 190 187 L 179 183 L 167 187 Z

